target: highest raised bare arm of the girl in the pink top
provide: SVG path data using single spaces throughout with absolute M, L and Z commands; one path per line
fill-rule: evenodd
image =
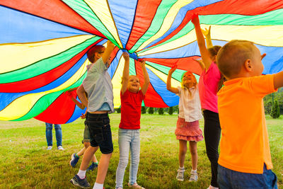
M 210 64 L 212 64 L 212 59 L 209 57 L 209 52 L 205 46 L 204 36 L 202 35 L 202 30 L 200 28 L 200 20 L 197 15 L 192 16 L 192 23 L 195 25 L 195 34 L 197 35 L 197 45 L 200 48 L 200 55 L 202 56 L 202 62 L 204 63 L 205 69 L 209 69 Z

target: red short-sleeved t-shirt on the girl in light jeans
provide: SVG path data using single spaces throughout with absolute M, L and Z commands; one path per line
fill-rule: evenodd
M 132 93 L 128 90 L 121 97 L 121 122 L 119 128 L 124 130 L 139 130 L 141 120 L 141 103 L 144 100 L 144 94 L 139 90 Z

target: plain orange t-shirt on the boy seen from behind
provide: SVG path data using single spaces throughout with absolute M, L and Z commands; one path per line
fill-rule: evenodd
M 272 168 L 263 97 L 275 92 L 273 75 L 231 79 L 217 93 L 221 125 L 218 163 L 233 171 Z

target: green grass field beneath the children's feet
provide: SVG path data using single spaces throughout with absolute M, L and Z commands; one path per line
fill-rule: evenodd
M 117 130 L 120 114 L 110 115 L 114 151 L 105 188 L 115 188 L 115 171 L 119 161 Z M 210 164 L 205 152 L 204 141 L 199 142 L 199 181 L 189 183 L 191 169 L 190 152 L 185 161 L 185 181 L 175 179 L 178 169 L 178 141 L 174 130 L 177 115 L 141 115 L 141 154 L 138 183 L 145 188 L 207 188 L 210 183 Z M 203 121 L 200 122 L 203 130 Z M 283 120 L 267 117 L 272 154 L 273 171 L 277 174 L 279 188 L 283 188 Z M 69 166 L 71 154 L 83 147 L 83 120 L 62 125 L 64 151 L 54 148 L 47 151 L 45 123 L 38 120 L 21 122 L 0 121 L 0 188 L 74 188 L 69 180 L 79 171 Z M 96 153 L 98 160 L 100 151 Z M 93 186 L 96 170 L 87 173 Z M 127 188 L 129 166 L 124 179 Z

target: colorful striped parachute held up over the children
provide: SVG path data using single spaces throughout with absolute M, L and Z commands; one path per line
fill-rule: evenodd
M 64 91 L 81 84 L 89 64 L 86 52 L 107 39 L 117 46 L 108 69 L 115 107 L 120 106 L 122 50 L 130 53 L 130 74 L 141 83 L 137 59 L 146 59 L 151 84 L 144 105 L 177 105 L 178 96 L 166 90 L 170 67 L 178 64 L 175 86 L 185 70 L 201 73 L 192 60 L 200 57 L 193 13 L 200 15 L 202 27 L 212 25 L 214 45 L 251 40 L 267 53 L 264 74 L 282 70 L 281 0 L 1 0 L 0 120 L 67 123 L 79 118 L 85 110 Z

